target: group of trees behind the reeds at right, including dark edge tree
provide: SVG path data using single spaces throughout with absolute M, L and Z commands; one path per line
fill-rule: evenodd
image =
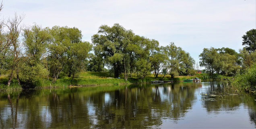
M 249 30 L 242 36 L 244 48 L 239 52 L 231 48 L 204 48 L 200 57 L 200 66 L 205 68 L 206 73 L 213 75 L 234 76 L 256 63 L 256 29 Z

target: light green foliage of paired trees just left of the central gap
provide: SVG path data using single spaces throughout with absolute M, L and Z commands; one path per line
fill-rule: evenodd
M 54 26 L 48 28 L 51 38 L 48 42 L 47 62 L 50 66 L 52 82 L 58 79 L 60 72 L 66 68 L 69 77 L 85 66 L 92 45 L 82 42 L 82 34 L 78 28 Z

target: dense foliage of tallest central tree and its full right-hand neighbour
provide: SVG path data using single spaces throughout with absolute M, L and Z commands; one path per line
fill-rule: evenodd
M 101 61 L 103 58 L 104 64 L 114 72 L 114 77 L 119 77 L 121 73 L 125 73 L 126 77 L 136 73 L 138 78 L 144 78 L 152 70 L 151 62 L 155 63 L 155 67 L 159 66 L 153 59 L 159 42 L 135 35 L 119 24 L 100 26 L 98 33 L 92 36 L 92 42 L 97 57 L 94 60 Z M 93 68 L 91 64 L 97 66 Z M 92 60 L 89 69 L 101 68 L 101 64 Z

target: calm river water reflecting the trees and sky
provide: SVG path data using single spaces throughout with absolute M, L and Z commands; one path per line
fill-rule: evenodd
M 222 82 L 0 94 L 0 128 L 255 128 L 256 97 Z

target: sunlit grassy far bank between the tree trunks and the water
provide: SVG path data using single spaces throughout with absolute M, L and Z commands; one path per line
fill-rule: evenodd
M 201 80 L 220 80 L 223 78 L 221 75 L 215 75 L 213 79 L 207 74 L 196 74 L 195 76 L 177 76 L 173 79 L 170 75 L 159 75 L 158 78 L 155 78 L 153 74 L 148 75 L 143 79 L 137 79 L 136 77 L 129 77 L 126 81 L 124 76 L 120 76 L 121 79 L 115 79 L 108 73 L 99 73 L 99 72 L 81 72 L 78 77 L 72 80 L 72 77 L 66 77 L 64 75 L 52 84 L 51 79 L 39 79 L 34 88 L 60 88 L 60 87 L 69 87 L 69 86 L 92 86 L 92 85 L 124 85 L 124 84 L 134 84 L 134 83 L 151 83 L 153 80 L 172 80 L 172 81 L 182 81 L 184 79 L 192 79 L 198 77 Z M 0 77 L 0 91 L 14 91 L 21 90 L 21 86 L 18 85 L 16 79 L 13 79 L 10 87 L 7 86 L 8 77 Z

